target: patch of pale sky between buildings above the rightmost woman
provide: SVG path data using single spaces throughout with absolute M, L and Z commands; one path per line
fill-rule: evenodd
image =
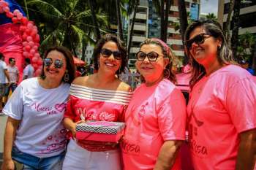
M 201 13 L 218 13 L 218 0 L 200 0 L 200 14 Z

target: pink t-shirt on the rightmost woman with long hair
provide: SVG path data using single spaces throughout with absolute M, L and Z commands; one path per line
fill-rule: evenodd
M 256 128 L 256 83 L 245 69 L 225 66 L 197 82 L 187 112 L 195 169 L 234 170 L 238 134 Z

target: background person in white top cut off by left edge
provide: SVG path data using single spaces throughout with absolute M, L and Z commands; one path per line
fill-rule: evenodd
M 9 85 L 10 76 L 7 72 L 7 65 L 4 62 L 4 54 L 0 53 L 0 112 L 3 109 L 3 97 Z

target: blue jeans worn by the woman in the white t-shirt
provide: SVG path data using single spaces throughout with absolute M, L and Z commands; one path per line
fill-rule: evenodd
M 21 152 L 17 147 L 12 147 L 12 159 L 24 164 L 24 170 L 61 170 L 65 152 L 60 155 L 38 158 L 34 155 Z

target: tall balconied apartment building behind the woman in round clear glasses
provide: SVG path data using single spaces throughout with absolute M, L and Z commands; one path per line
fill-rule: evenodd
M 199 0 L 186 0 L 187 12 L 190 12 L 191 18 L 196 20 L 199 17 Z M 132 14 L 133 15 L 133 14 Z M 132 20 L 132 15 L 129 16 L 129 26 Z M 169 26 L 167 28 L 167 45 L 169 45 L 173 52 L 178 57 L 184 56 L 181 34 L 175 31 L 173 23 L 179 23 L 178 15 L 178 0 L 173 0 L 169 12 Z M 160 37 L 160 16 L 157 15 L 156 9 L 152 0 L 140 0 L 138 12 L 136 14 L 134 34 L 132 36 L 132 49 L 129 55 L 129 67 L 134 67 L 136 61 L 135 53 L 139 50 L 139 45 L 146 38 Z M 129 37 L 129 31 L 128 31 Z

